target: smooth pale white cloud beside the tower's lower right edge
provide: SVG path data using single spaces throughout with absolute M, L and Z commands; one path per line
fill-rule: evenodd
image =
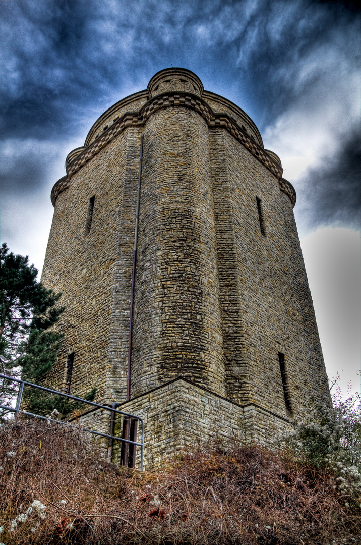
M 329 375 L 342 392 L 360 390 L 361 237 L 342 228 L 317 229 L 301 239 L 317 325 Z

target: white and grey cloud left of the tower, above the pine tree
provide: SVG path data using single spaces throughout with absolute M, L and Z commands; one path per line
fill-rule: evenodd
M 82 145 L 78 140 L 54 144 L 33 138 L 11 138 L 0 144 L 5 178 L 0 240 L 10 251 L 28 255 L 39 272 L 53 216 L 52 186 L 65 175 L 66 155 Z

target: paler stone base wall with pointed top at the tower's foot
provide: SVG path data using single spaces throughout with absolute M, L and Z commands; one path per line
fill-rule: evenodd
M 261 407 L 245 407 L 179 378 L 137 398 L 122 403 L 119 410 L 144 419 L 144 469 L 159 467 L 182 451 L 192 451 L 199 441 L 215 438 L 258 442 L 272 440 L 284 426 L 279 418 Z M 117 419 L 115 432 L 121 429 Z M 140 426 L 137 441 L 140 442 Z M 113 462 L 119 462 L 118 444 L 113 447 Z M 140 465 L 137 447 L 136 467 Z

